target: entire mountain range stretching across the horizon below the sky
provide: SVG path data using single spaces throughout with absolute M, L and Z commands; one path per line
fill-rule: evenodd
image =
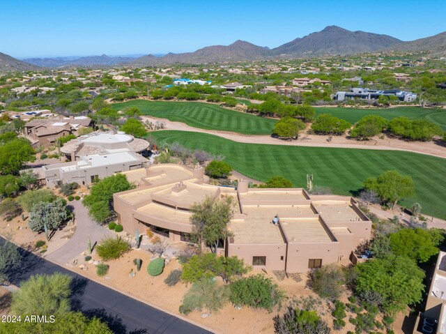
M 429 52 L 433 56 L 446 55 L 446 32 L 436 36 L 403 42 L 392 36 L 364 31 L 349 31 L 339 26 L 327 26 L 322 31 L 295 38 L 289 43 L 270 49 L 243 40 L 231 45 L 213 45 L 195 52 L 181 54 L 169 53 L 163 56 L 148 54 L 139 58 L 127 56 L 86 56 L 79 59 L 31 58 L 19 61 L 0 53 L 0 70 L 28 70 L 35 66 L 73 67 L 73 66 L 155 66 L 175 63 L 232 63 L 237 61 L 256 61 L 277 58 L 302 58 L 333 54 L 361 54 L 377 51 Z M 25 62 L 26 61 L 26 62 Z

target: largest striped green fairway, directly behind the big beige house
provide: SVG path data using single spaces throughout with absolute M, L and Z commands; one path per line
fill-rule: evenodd
M 266 181 L 282 175 L 296 187 L 305 187 L 306 174 L 314 175 L 314 184 L 330 187 L 335 194 L 351 195 L 369 176 L 389 169 L 410 175 L 416 194 L 402 204 L 422 205 L 422 212 L 446 218 L 446 160 L 401 151 L 334 149 L 232 142 L 214 135 L 183 131 L 151 132 L 158 146 L 178 142 L 190 149 L 222 154 L 226 162 L 246 176 Z

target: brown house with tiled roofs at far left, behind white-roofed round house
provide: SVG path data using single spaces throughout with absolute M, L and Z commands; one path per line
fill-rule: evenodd
M 63 136 L 77 135 L 81 128 L 88 128 L 93 121 L 86 116 L 59 119 L 33 119 L 24 126 L 24 134 L 33 146 L 49 146 Z

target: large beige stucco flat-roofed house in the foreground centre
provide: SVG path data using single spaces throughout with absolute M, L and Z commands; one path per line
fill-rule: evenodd
M 220 254 L 246 264 L 288 273 L 305 272 L 348 259 L 370 238 L 371 222 L 351 197 L 310 196 L 302 188 L 238 188 L 209 185 L 201 167 L 153 165 L 125 172 L 139 187 L 114 194 L 114 209 L 125 231 L 151 228 L 170 241 L 188 241 L 190 206 L 206 196 L 232 197 L 234 214 Z M 273 220 L 277 216 L 277 223 Z

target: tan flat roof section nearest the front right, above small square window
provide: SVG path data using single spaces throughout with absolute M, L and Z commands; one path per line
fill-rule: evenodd
M 332 238 L 318 218 L 280 218 L 290 243 L 330 243 Z

